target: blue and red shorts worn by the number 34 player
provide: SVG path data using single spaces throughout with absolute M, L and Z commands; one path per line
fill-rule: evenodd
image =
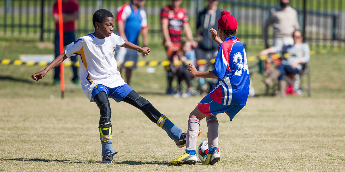
M 198 104 L 198 109 L 200 112 L 206 115 L 215 116 L 217 114 L 225 112 L 230 121 L 233 120 L 235 115 L 243 108 L 243 106 L 236 105 L 223 105 L 214 101 L 210 95 L 206 95 Z

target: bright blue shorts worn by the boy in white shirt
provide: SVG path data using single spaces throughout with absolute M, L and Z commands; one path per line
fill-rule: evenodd
M 115 88 L 109 88 L 102 84 L 96 85 L 92 90 L 92 99 L 95 99 L 95 95 L 99 92 L 106 92 L 107 96 L 114 99 L 118 103 L 123 100 L 130 92 L 133 91 L 133 88 L 130 87 L 128 84 L 124 84 Z

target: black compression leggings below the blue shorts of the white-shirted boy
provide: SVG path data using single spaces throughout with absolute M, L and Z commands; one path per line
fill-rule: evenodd
M 99 92 L 95 95 L 95 102 L 100 109 L 101 118 L 99 122 L 110 121 L 111 109 L 107 94 Z M 130 92 L 122 101 L 140 109 L 152 121 L 157 123 L 161 113 L 145 98 L 139 96 L 134 90 Z

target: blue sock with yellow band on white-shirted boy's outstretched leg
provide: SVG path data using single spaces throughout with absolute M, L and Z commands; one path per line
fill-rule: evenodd
M 178 141 L 182 135 L 182 130 L 172 123 L 165 115 L 161 115 L 157 121 L 157 126 L 167 132 L 168 136 Z

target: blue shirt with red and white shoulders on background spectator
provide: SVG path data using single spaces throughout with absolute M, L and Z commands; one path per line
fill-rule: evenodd
M 147 17 L 145 10 L 132 9 L 132 4 L 124 4 L 117 9 L 117 21 L 125 24 L 125 35 L 129 42 L 138 45 L 140 31 L 147 28 Z

